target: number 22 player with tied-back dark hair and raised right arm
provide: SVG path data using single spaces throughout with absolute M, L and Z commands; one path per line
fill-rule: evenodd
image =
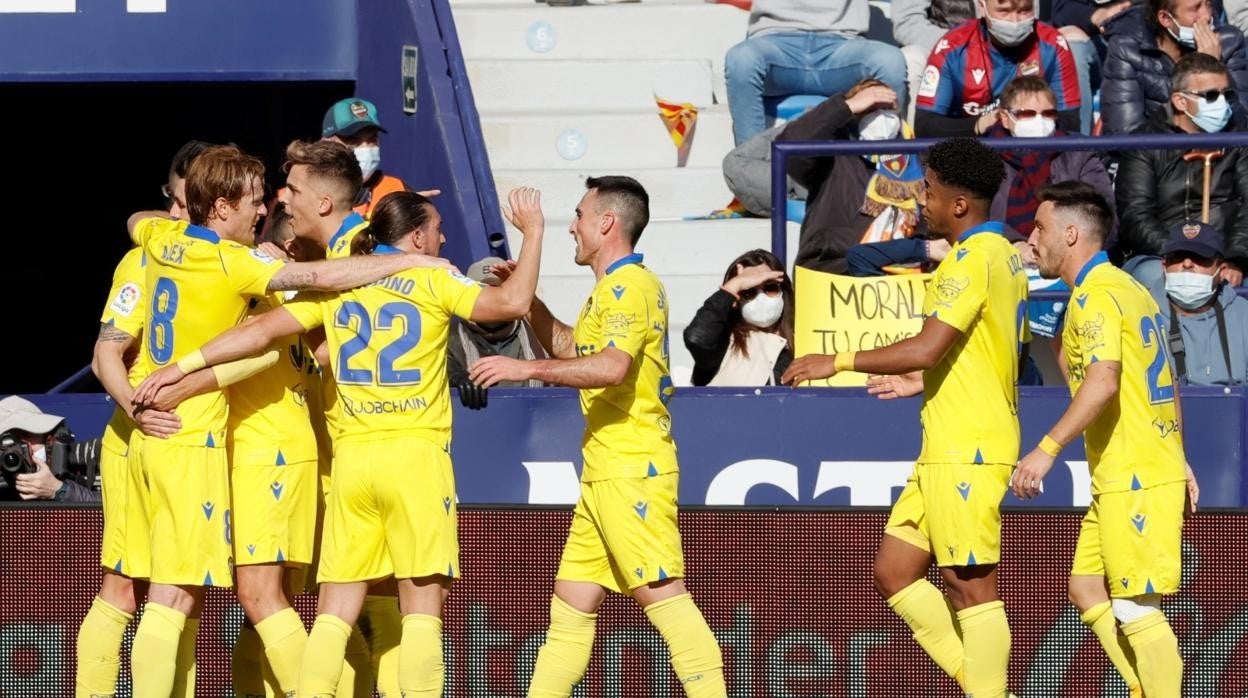
M 333 488 L 321 549 L 318 616 L 298 696 L 333 696 L 352 624 L 371 582 L 398 579 L 403 696 L 443 688 L 442 606 L 458 576 L 447 340 L 451 316 L 523 316 L 537 287 L 544 220 L 535 190 L 515 190 L 508 219 L 525 237 L 512 277 L 482 287 L 458 272 L 414 270 L 341 293 L 308 295 L 212 340 L 149 376 L 140 398 L 185 371 L 252 355 L 277 337 L 323 326 L 342 403 Z M 387 196 L 353 247 L 403 257 L 442 245 L 437 209 L 416 192 Z M 352 260 L 357 256 L 351 257 Z

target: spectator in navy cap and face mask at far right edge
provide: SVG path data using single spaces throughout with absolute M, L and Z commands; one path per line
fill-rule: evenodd
M 1222 233 L 1183 221 L 1171 229 L 1162 251 L 1164 282 L 1149 291 L 1166 317 L 1176 380 L 1189 386 L 1244 385 L 1248 301 L 1222 281 Z

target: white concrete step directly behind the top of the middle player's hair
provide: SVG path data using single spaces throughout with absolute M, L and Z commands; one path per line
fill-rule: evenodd
M 585 177 L 626 175 L 641 182 L 650 195 L 650 217 L 704 216 L 733 200 L 719 167 L 658 167 L 631 170 L 494 170 L 494 187 L 500 197 L 518 186 L 542 190 L 542 206 L 567 217 L 585 194 Z

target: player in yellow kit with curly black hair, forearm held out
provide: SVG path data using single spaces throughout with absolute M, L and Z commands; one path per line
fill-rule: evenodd
M 1027 276 L 1002 224 L 988 221 L 1001 156 L 951 139 L 925 167 L 924 219 L 952 248 L 927 287 L 922 330 L 877 350 L 796 358 L 782 380 L 861 371 L 879 376 L 869 390 L 882 398 L 922 391 L 924 446 L 885 527 L 875 587 L 968 696 L 995 698 L 1006 694 L 1010 663 L 997 562 L 1001 498 L 1018 458 Z M 947 598 L 925 578 L 934 558 Z

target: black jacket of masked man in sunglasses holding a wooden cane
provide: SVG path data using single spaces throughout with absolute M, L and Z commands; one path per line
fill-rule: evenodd
M 1243 131 L 1236 115 L 1227 131 Z M 1166 109 L 1154 111 L 1134 134 L 1178 134 Z M 1161 255 L 1168 231 L 1201 217 L 1204 191 L 1203 160 L 1186 161 L 1182 150 L 1129 150 L 1118 154 L 1114 197 L 1118 236 L 1127 257 Z M 1248 152 L 1227 149 L 1213 161 L 1209 224 L 1222 231 L 1227 258 L 1248 268 Z

